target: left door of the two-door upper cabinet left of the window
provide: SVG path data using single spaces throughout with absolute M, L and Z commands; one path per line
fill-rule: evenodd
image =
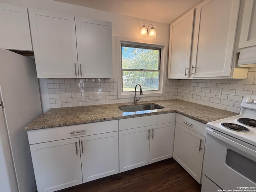
M 78 77 L 74 16 L 28 11 L 38 78 Z

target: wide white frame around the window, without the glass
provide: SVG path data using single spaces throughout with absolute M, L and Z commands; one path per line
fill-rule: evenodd
M 152 40 L 135 39 L 128 37 L 116 37 L 116 54 L 117 54 L 117 94 L 118 98 L 133 98 L 134 92 L 122 92 L 122 53 L 121 44 L 128 44 L 134 46 L 145 46 L 152 48 L 161 48 L 160 56 L 160 77 L 159 77 L 159 90 L 144 91 L 140 97 L 150 96 L 164 96 L 165 79 L 166 79 L 166 67 L 167 67 L 167 49 L 168 44 L 165 42 L 158 42 Z M 134 85 L 135 88 L 135 85 Z M 142 88 L 143 91 L 143 88 Z

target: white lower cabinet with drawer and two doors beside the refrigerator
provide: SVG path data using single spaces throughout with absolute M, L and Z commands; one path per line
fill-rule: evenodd
M 40 143 L 35 143 L 35 135 Z M 119 172 L 118 120 L 32 130 L 28 138 L 38 192 L 53 192 Z

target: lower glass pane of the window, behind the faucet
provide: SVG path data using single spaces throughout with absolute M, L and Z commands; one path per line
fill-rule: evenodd
M 138 83 L 142 86 L 142 91 L 159 90 L 158 71 L 123 71 L 122 81 L 123 92 L 134 91 Z M 139 86 L 137 90 L 140 90 Z

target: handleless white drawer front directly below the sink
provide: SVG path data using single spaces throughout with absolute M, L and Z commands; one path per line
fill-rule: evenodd
M 119 130 L 175 122 L 176 113 L 142 116 L 119 120 Z

